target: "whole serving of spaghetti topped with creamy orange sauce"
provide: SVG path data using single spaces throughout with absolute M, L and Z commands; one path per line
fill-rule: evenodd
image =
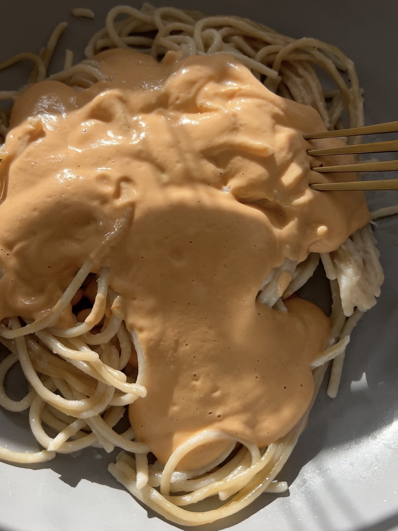
M 304 135 L 363 125 L 357 75 L 316 39 L 150 4 L 113 8 L 86 59 L 48 75 L 65 27 L 0 64 L 34 66 L 0 92 L 0 404 L 29 409 L 43 448 L 0 459 L 117 447 L 109 472 L 137 499 L 210 523 L 287 489 L 327 366 L 334 397 L 380 293 L 364 194 L 309 187 L 335 178 L 314 165 L 353 161 L 309 157 L 344 139 Z M 330 316 L 297 294 L 318 263 Z

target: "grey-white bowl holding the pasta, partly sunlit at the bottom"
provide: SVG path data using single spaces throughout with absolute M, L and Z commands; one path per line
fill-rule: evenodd
M 159 0 L 153 2 L 162 5 Z M 68 47 L 83 58 L 94 31 L 117 2 L 85 0 L 92 20 L 73 19 L 72 0 L 16 0 L 2 3 L 0 61 L 19 52 L 39 52 L 59 21 L 70 27 L 56 54 Z M 132 2 L 139 7 L 139 3 Z M 353 59 L 364 88 L 368 123 L 398 119 L 396 0 L 174 0 L 172 5 L 209 14 L 236 14 L 263 22 L 293 37 L 317 37 L 339 46 Z M 57 68 L 58 67 L 58 68 Z M 25 82 L 22 67 L 0 72 L 0 87 Z M 387 175 L 388 177 L 388 175 Z M 372 192 L 371 208 L 398 203 L 397 192 Z M 387 531 L 398 529 L 398 220 L 376 228 L 385 271 L 382 295 L 354 330 L 339 395 L 322 388 L 305 432 L 280 479 L 282 496 L 263 494 L 237 516 L 203 531 Z M 0 444 L 37 447 L 27 416 L 0 411 Z M 58 455 L 39 467 L 0 463 L 1 531 L 165 531 L 166 523 L 136 502 L 107 472 L 115 453 L 86 449 Z

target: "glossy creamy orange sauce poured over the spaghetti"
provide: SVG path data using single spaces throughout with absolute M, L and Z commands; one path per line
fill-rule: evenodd
M 324 130 L 321 118 L 228 56 L 97 59 L 107 81 L 82 91 L 44 81 L 15 102 L 0 165 L 0 318 L 44 315 L 121 223 L 94 272 L 109 266 L 143 350 L 148 396 L 129 408 L 137 439 L 163 463 L 203 429 L 266 446 L 305 412 L 330 325 L 298 297 L 270 309 L 258 289 L 285 258 L 332 251 L 365 225 L 364 195 L 309 188 L 333 178 L 306 154 L 315 142 L 303 133 Z

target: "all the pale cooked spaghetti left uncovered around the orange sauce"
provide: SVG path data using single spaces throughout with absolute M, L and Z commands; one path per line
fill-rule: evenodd
M 91 17 L 88 11 L 74 10 L 73 14 Z M 125 17 L 116 21 L 119 15 Z M 35 65 L 30 83 L 44 80 L 65 28 L 66 23 L 58 25 L 39 55 L 19 54 L 1 63 L 0 68 L 29 59 Z M 64 70 L 47 79 L 79 89 L 92 87 L 107 79 L 95 58 L 97 53 L 108 48 L 131 47 L 156 59 L 161 59 L 168 50 L 180 53 L 181 57 L 228 54 L 276 94 L 316 109 L 328 129 L 342 129 L 345 116 L 350 127 L 364 124 L 356 72 L 338 48 L 316 39 L 285 37 L 263 24 L 234 16 L 206 17 L 172 7 L 155 8 L 148 3 L 140 11 L 128 6 L 113 8 L 107 15 L 106 27 L 86 47 L 86 60 L 73 65 L 73 54 L 67 50 Z M 323 68 L 334 81 L 336 90 L 323 90 L 314 66 Z M 1 91 L 0 99 L 15 99 L 23 91 Z M 3 139 L 8 131 L 8 117 L 8 113 L 0 112 Z M 32 123 L 32 127 L 36 125 Z M 349 142 L 354 143 L 356 139 L 350 138 Z M 2 148 L 0 158 L 7 159 L 7 152 Z M 395 207 L 380 209 L 372 219 L 394 213 Z M 103 248 L 109 249 L 109 242 L 124 230 L 126 220 L 128 215 L 115 224 L 113 233 L 104 238 Z M 108 452 L 121 448 L 123 451 L 116 463 L 109 466 L 109 472 L 137 499 L 180 525 L 209 523 L 239 511 L 262 492 L 287 489 L 284 482 L 275 478 L 305 427 L 327 365 L 332 361 L 327 392 L 333 397 L 338 391 L 350 333 L 379 295 L 383 272 L 370 227 L 358 230 L 331 253 L 321 253 L 320 257 L 318 253 L 310 253 L 300 263 L 286 259 L 271 271 L 260 288 L 258 300 L 262 304 L 286 310 L 286 299 L 313 275 L 319 258 L 331 282 L 330 338 L 325 351 L 312 363 L 315 392 L 295 427 L 261 449 L 253 442 L 231 437 L 221 430 L 203 431 L 180 444 L 164 466 L 148 459 L 148 446 L 135 440 L 131 428 L 121 434 L 114 430 L 125 407 L 146 396 L 148 371 L 140 342 L 118 311 L 118 295 L 109 288 L 109 268 L 102 267 L 92 279 L 94 262 L 103 252 L 101 249 L 87 258 L 47 315 L 34 321 L 25 319 L 23 324 L 17 316 L 3 321 L 0 340 L 11 354 L 0 364 L 0 404 L 11 411 L 29 408 L 32 433 L 44 450 L 22 453 L 0 448 L 0 459 L 42 463 L 53 459 L 57 452 L 68 453 L 89 446 L 102 447 Z M 356 281 L 352 281 L 352 271 Z M 57 326 L 71 302 L 86 293 L 89 282 L 96 283 L 97 290 L 83 322 L 76 320 L 66 328 Z M 134 351 L 136 367 L 134 359 L 131 364 Z M 30 384 L 27 396 L 20 401 L 11 400 L 4 390 L 5 375 L 15 363 L 21 364 Z M 55 435 L 48 435 L 44 425 Z M 209 441 L 226 439 L 233 441 L 210 464 L 177 470 L 178 463 L 189 451 Z M 237 452 L 235 443 L 242 445 Z M 221 501 L 227 500 L 226 503 L 205 512 L 185 509 L 214 495 Z

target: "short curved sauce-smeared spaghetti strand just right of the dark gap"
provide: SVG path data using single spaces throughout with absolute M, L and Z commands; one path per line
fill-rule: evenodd
M 86 332 L 89 332 L 96 324 L 98 324 L 103 315 L 105 314 L 106 305 L 107 305 L 107 295 L 108 295 L 108 279 L 109 279 L 109 268 L 101 268 L 99 277 L 98 277 L 98 289 L 97 295 L 94 299 L 94 304 L 89 315 L 84 319 L 84 323 L 77 324 L 72 328 L 52 328 L 50 332 L 57 337 L 76 337 L 81 336 Z M 82 358 L 83 359 L 83 358 Z

